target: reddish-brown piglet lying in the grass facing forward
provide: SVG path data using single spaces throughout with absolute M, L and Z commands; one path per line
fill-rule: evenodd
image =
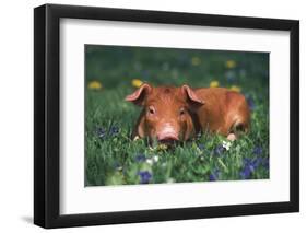
M 154 88 L 144 83 L 126 101 L 142 107 L 133 138 L 173 143 L 210 132 L 235 140 L 250 126 L 245 96 L 224 88 Z

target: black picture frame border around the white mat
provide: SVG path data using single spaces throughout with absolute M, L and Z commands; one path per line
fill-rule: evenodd
M 290 201 L 61 215 L 59 213 L 59 23 L 63 18 L 288 31 L 291 35 Z M 34 223 L 43 228 L 299 211 L 299 22 L 296 20 L 45 4 L 34 9 Z

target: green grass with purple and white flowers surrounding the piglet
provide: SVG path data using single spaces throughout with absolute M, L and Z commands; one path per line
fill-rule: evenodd
M 86 88 L 86 186 L 269 178 L 268 54 L 87 46 L 85 56 L 85 84 L 97 80 L 104 86 Z M 235 66 L 225 66 L 227 60 Z M 132 141 L 141 109 L 123 98 L 135 78 L 154 85 L 237 85 L 252 102 L 251 130 L 228 151 L 216 135 L 175 148 Z

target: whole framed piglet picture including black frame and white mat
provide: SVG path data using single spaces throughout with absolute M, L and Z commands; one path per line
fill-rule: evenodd
M 299 211 L 299 21 L 45 4 L 34 45 L 35 224 Z

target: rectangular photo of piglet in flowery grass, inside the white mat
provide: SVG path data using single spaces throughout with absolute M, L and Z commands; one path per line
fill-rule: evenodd
M 85 186 L 268 179 L 269 53 L 85 45 Z

